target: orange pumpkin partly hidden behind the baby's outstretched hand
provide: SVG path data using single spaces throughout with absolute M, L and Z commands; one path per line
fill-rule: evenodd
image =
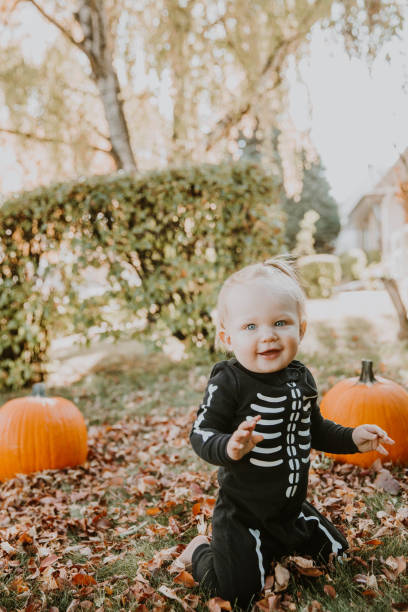
M 326 419 L 347 427 L 365 423 L 378 425 L 395 440 L 386 446 L 388 455 L 377 451 L 355 455 L 329 457 L 342 463 L 369 467 L 376 459 L 408 465 L 408 393 L 400 385 L 386 378 L 375 378 L 373 363 L 362 362 L 360 378 L 348 378 L 332 387 L 320 405 Z

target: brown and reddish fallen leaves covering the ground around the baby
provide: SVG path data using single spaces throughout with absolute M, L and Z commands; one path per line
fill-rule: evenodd
M 215 472 L 191 460 L 194 417 L 195 408 L 184 416 L 169 409 L 92 426 L 85 465 L 2 483 L 0 610 L 11 595 L 27 612 L 44 606 L 69 612 L 233 610 L 219 597 L 206 598 L 191 572 L 175 563 L 197 532 L 211 537 L 216 499 Z M 309 498 L 345 532 L 351 543 L 346 562 L 357 569 L 354 584 L 372 601 L 406 575 L 404 555 L 383 557 L 381 551 L 384 538 L 407 536 L 408 470 L 397 474 L 378 463 L 362 470 L 319 459 L 315 454 Z M 367 500 L 380 493 L 385 501 L 373 508 Z M 371 557 L 363 559 L 367 553 Z M 129 558 L 132 569 L 124 571 L 120 563 Z M 306 556 L 281 559 L 271 565 L 253 610 L 324 610 L 317 599 L 302 602 L 296 585 L 314 581 L 323 601 L 334 600 L 334 576 L 333 567 Z M 63 608 L 52 605 L 61 590 L 69 600 Z M 392 602 L 396 610 L 408 609 L 404 605 Z

